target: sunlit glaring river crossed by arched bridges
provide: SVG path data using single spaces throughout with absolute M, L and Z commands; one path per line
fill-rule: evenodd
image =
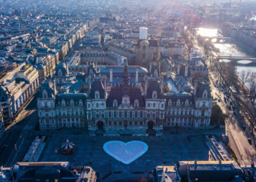
M 222 36 L 222 34 L 218 33 L 218 29 L 216 28 L 197 28 L 197 34 L 200 36 Z M 249 57 L 249 55 L 244 52 L 244 50 L 241 50 L 236 44 L 214 44 L 215 47 L 219 48 L 220 55 L 223 56 L 238 56 L 238 57 Z M 239 76 L 239 72 L 241 70 L 256 72 L 256 64 L 249 64 L 249 65 L 243 65 L 238 64 L 237 66 L 237 72 Z

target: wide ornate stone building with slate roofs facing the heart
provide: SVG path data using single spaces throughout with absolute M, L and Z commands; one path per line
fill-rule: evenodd
M 165 78 L 159 74 L 146 75 L 133 86 L 128 68 L 125 62 L 122 81 L 115 84 L 100 74 L 74 76 L 59 93 L 55 80 L 45 81 L 37 99 L 40 130 L 82 127 L 146 134 L 165 127 L 209 129 L 213 99 L 206 81 L 196 82 L 194 92 L 165 92 Z

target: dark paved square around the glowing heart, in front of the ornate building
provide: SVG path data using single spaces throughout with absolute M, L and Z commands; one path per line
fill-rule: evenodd
M 63 156 L 60 153 L 55 154 L 55 149 L 59 149 L 61 143 L 67 138 L 75 143 L 75 154 L 72 156 Z M 200 136 L 190 136 L 190 142 L 187 135 L 162 135 L 162 136 L 96 136 L 89 135 L 61 135 L 53 134 L 42 152 L 39 159 L 41 162 L 68 161 L 72 165 L 91 166 L 95 171 L 102 174 L 122 172 L 122 175 L 131 173 L 145 173 L 152 171 L 157 165 L 163 164 L 165 156 L 165 165 L 174 165 L 178 160 L 208 160 L 209 151 L 203 139 Z M 118 160 L 110 157 L 104 149 L 104 143 L 108 141 L 143 141 L 148 145 L 148 151 L 134 162 L 125 165 Z M 100 143 L 100 145 L 99 145 Z M 90 164 L 92 159 L 92 164 Z M 102 176 L 101 176 L 102 177 Z

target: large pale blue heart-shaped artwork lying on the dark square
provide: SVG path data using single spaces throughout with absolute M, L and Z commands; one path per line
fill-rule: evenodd
M 142 156 L 148 150 L 148 145 L 142 141 L 129 141 L 127 143 L 108 141 L 104 144 L 103 149 L 110 156 L 128 165 Z

